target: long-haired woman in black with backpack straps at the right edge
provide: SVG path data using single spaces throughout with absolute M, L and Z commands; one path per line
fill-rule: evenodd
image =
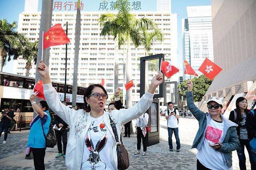
M 246 122 L 248 120 L 249 110 L 247 109 L 247 100 L 244 97 L 239 97 L 236 99 L 236 109 L 232 110 L 229 115 L 229 120 L 238 124 L 236 127 L 237 135 L 240 142 L 240 148 L 236 150 L 240 170 L 246 170 L 246 157 L 244 154 L 244 147 L 246 147 L 249 158 L 251 169 L 256 169 L 256 153 L 252 151 L 250 147 L 250 141 L 252 138 L 249 137 L 248 130 L 246 129 Z

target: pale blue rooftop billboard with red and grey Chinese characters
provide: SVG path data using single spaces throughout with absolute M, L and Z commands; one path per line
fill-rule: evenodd
M 80 0 L 80 10 L 83 12 L 102 11 L 111 12 L 114 10 L 116 0 Z M 129 0 L 132 11 L 156 11 L 157 0 Z M 42 0 L 38 4 L 38 11 L 41 11 Z M 54 0 L 54 12 L 77 10 L 77 0 Z

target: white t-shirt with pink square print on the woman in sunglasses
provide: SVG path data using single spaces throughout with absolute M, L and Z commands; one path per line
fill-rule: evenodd
M 196 158 L 203 164 L 206 168 L 212 170 L 232 170 L 233 168 L 228 168 L 224 164 L 224 157 L 221 155 L 221 152 L 216 151 L 209 144 L 213 145 L 216 143 L 222 143 L 224 140 L 223 137 L 223 122 L 217 122 L 213 119 L 210 120 L 209 125 L 206 127 L 206 132 L 204 135 L 204 141 L 202 147 L 198 150 Z

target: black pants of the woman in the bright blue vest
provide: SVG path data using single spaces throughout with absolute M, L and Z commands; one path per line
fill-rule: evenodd
M 31 148 L 34 156 L 34 166 L 36 170 L 44 170 L 44 156 L 46 148 Z

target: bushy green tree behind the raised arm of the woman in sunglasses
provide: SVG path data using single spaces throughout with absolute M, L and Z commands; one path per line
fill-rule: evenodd
M 194 88 L 193 88 L 194 102 L 200 102 L 202 100 L 202 97 L 204 96 L 204 94 L 212 84 L 212 80 L 210 80 L 204 75 L 201 75 L 199 77 L 192 78 L 191 81 L 194 84 Z M 179 88 L 180 100 L 181 100 L 181 96 L 183 96 L 183 98 L 185 99 L 186 98 L 185 93 L 188 90 L 187 80 L 182 82 L 178 86 L 178 88 Z

